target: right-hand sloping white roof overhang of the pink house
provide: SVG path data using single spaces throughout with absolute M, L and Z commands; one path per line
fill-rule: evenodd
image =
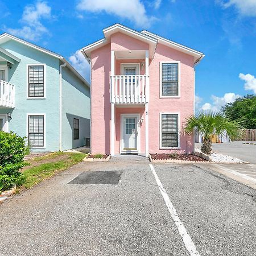
M 195 49 L 189 48 L 187 46 L 183 46 L 182 44 L 178 44 L 174 41 L 171 41 L 166 38 L 162 38 L 162 36 L 156 35 L 154 33 L 151 33 L 147 30 L 141 31 L 142 34 L 151 36 L 152 38 L 155 38 L 158 40 L 159 43 L 164 44 L 165 46 L 171 47 L 173 49 L 176 49 L 177 51 L 187 53 L 188 55 L 192 55 L 194 57 L 195 64 L 199 63 L 203 57 L 204 53 L 196 51 Z

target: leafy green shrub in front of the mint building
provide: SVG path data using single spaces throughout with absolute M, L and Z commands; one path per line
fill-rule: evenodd
M 24 176 L 19 170 L 25 165 L 25 139 L 13 132 L 0 131 L 0 192 L 24 182 Z

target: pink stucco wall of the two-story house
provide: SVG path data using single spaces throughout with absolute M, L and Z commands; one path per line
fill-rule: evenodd
M 148 49 L 148 45 L 127 35 L 116 33 L 111 42 L 92 52 L 92 154 L 110 154 L 110 52 L 124 49 Z M 180 61 L 180 98 L 160 98 L 160 61 Z M 115 60 L 116 75 L 120 74 L 121 63 L 141 63 L 144 60 Z M 141 71 L 143 74 L 144 71 Z M 180 137 L 179 150 L 159 149 L 159 113 L 179 113 L 180 126 L 185 117 L 193 113 L 194 69 L 193 57 L 162 44 L 156 47 L 154 59 L 150 60 L 150 103 L 149 152 L 191 152 L 193 141 L 184 135 Z M 144 108 L 115 108 L 115 153 L 119 153 L 121 113 L 139 113 L 144 117 Z M 141 152 L 145 151 L 145 123 L 141 127 Z

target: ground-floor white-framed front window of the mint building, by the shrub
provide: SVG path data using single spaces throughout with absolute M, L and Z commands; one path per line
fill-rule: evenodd
M 32 147 L 44 146 L 44 115 L 28 115 L 28 141 Z

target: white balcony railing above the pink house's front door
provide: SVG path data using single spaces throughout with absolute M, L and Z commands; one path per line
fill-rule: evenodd
M 110 76 L 110 101 L 145 104 L 149 100 L 149 76 Z

